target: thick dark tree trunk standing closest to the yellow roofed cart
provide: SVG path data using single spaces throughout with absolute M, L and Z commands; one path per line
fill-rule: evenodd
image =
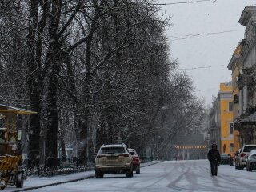
M 30 93 L 30 110 L 38 112 L 38 114 L 30 115 L 30 137 L 29 137 L 29 167 L 39 166 L 39 141 L 40 141 L 40 82 L 38 63 L 34 59 L 35 55 L 35 33 L 38 24 L 38 0 L 30 2 L 30 24 L 29 33 L 26 38 L 27 49 L 27 66 L 29 70 L 28 88 Z

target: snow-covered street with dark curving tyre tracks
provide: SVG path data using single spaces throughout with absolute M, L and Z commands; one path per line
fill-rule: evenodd
M 125 174 L 104 175 L 80 182 L 46 187 L 33 191 L 256 191 L 256 172 L 235 170 L 234 166 L 218 166 L 218 176 L 210 175 L 206 160 L 162 162 L 146 166 L 141 174 L 126 178 Z

